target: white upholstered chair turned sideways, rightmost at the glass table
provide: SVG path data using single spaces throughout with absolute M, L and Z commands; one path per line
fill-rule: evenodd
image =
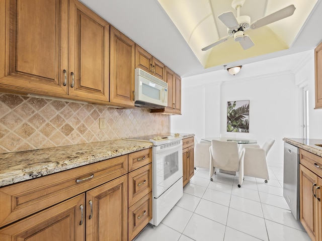
M 240 159 L 244 165 L 241 175 L 262 178 L 267 183 L 269 175 L 266 158 L 274 142 L 275 140 L 268 139 L 262 148 L 257 144 L 244 145 L 240 151 Z M 241 180 L 241 183 L 243 183 L 243 180 Z

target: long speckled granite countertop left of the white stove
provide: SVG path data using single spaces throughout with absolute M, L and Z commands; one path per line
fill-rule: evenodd
M 0 154 L 0 187 L 152 147 L 150 142 L 111 140 Z

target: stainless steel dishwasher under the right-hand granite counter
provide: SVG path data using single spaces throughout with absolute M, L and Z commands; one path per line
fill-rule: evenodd
M 283 195 L 296 220 L 299 219 L 299 150 L 284 142 Z

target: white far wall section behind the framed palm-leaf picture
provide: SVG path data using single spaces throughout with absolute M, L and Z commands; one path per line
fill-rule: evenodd
M 268 165 L 283 166 L 284 137 L 298 137 L 298 87 L 294 74 L 265 76 L 244 81 L 229 81 L 221 88 L 221 133 L 226 132 L 226 103 L 250 100 L 250 132 L 236 137 L 255 139 L 262 146 L 268 138 L 275 139 Z

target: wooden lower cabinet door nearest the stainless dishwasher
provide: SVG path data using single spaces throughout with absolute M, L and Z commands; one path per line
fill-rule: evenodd
M 316 185 L 317 176 L 300 164 L 300 221 L 311 240 L 318 240 L 317 199 L 312 193 Z

